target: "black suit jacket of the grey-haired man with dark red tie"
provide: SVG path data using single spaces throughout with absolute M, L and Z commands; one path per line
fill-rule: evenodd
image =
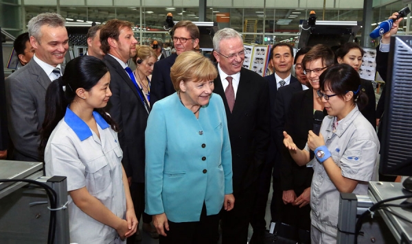
M 219 75 L 214 85 L 214 93 L 225 103 L 232 151 L 233 193 L 238 193 L 257 180 L 266 158 L 270 134 L 268 82 L 242 68 L 232 113 Z

